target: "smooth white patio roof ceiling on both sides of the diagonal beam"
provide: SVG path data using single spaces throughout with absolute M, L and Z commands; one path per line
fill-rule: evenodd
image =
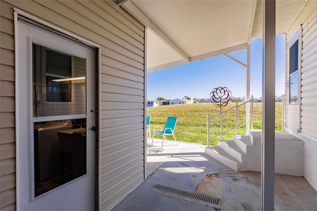
M 248 42 L 253 0 L 133 0 L 132 3 L 185 54 L 194 58 L 191 61 L 202 54 Z M 186 63 L 151 31 L 148 33 L 148 72 Z

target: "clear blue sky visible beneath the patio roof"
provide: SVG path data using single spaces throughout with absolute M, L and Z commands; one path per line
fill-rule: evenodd
M 284 93 L 285 34 L 276 35 L 275 95 Z M 262 38 L 250 44 L 250 94 L 262 96 Z M 230 56 L 246 64 L 247 51 L 232 52 Z M 234 97 L 246 96 L 246 67 L 220 55 L 147 74 L 147 99 L 207 98 L 215 87 L 228 87 Z

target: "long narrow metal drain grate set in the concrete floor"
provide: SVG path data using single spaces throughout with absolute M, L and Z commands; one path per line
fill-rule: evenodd
M 219 199 L 214 199 L 208 196 L 204 196 L 204 195 L 199 195 L 199 194 L 195 194 L 195 193 L 191 193 L 188 191 L 184 191 L 184 190 L 179 190 L 176 188 L 171 188 L 171 187 L 167 187 L 164 185 L 160 185 L 160 184 L 156 184 L 153 188 L 158 189 L 158 190 L 162 190 L 168 193 L 172 193 L 175 195 L 179 195 L 179 196 L 184 196 L 187 198 L 191 198 L 191 199 L 195 199 L 198 201 L 203 201 L 205 203 L 210 203 L 210 204 L 214 204 L 214 205 L 219 205 Z

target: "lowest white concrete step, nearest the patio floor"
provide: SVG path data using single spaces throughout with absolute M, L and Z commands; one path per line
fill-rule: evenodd
M 238 170 L 238 163 L 240 162 L 236 158 L 229 155 L 226 151 L 221 149 L 219 146 L 206 147 L 205 153 L 230 167 L 231 169 L 236 171 Z

